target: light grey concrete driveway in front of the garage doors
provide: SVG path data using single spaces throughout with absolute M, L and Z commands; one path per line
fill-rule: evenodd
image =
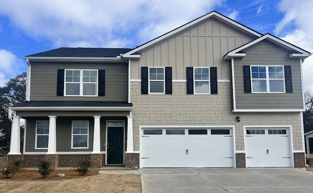
M 303 168 L 139 169 L 143 193 L 312 193 Z

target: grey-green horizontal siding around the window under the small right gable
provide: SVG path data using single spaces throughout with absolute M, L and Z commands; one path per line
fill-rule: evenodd
M 244 93 L 243 65 L 291 65 L 292 93 Z M 303 109 L 300 60 L 272 43 L 262 42 L 244 58 L 234 58 L 236 109 Z

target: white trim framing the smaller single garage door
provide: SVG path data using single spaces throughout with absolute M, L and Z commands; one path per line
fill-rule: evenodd
M 293 137 L 292 137 L 292 126 L 291 125 L 259 125 L 259 126 L 256 126 L 256 125 L 253 125 L 253 126 L 244 126 L 244 129 L 243 129 L 243 132 L 244 132 L 244 144 L 245 144 L 245 154 L 246 154 L 246 129 L 254 129 L 254 128 L 287 128 L 289 129 L 290 131 L 290 137 L 289 137 L 289 140 L 290 140 L 290 156 L 291 156 L 291 167 L 294 168 L 294 156 L 293 156 L 293 153 L 295 152 L 293 150 Z

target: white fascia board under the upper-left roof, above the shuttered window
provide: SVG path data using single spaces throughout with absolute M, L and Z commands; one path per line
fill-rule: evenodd
M 31 61 L 54 61 L 54 62 L 63 62 L 63 61 L 123 61 L 120 56 L 117 57 L 22 57 L 22 59 L 28 59 Z

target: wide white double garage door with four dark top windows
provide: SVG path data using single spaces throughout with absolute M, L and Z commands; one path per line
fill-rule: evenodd
M 142 168 L 233 167 L 231 129 L 142 129 Z

